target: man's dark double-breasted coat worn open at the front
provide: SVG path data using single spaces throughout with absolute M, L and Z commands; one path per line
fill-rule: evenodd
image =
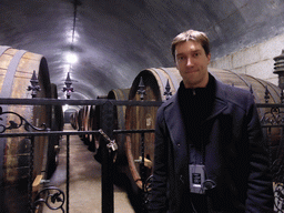
M 216 81 L 206 132 L 205 168 L 216 187 L 210 212 L 271 212 L 268 154 L 252 94 Z M 149 212 L 179 213 L 187 190 L 189 154 L 178 92 L 158 110 L 152 199 Z M 185 171 L 185 172 L 184 172 Z

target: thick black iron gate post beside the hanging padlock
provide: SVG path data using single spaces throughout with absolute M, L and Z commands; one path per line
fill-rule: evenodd
M 103 132 L 113 139 L 113 104 L 106 101 L 101 105 L 101 126 Z M 102 212 L 113 213 L 113 160 L 109 153 L 106 144 L 109 143 L 103 136 L 100 140 L 102 148 Z

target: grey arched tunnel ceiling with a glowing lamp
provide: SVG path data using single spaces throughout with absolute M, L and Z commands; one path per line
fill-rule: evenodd
M 1 0 L 0 45 L 45 57 L 60 98 L 70 72 L 71 99 L 95 99 L 173 67 L 181 31 L 205 31 L 214 59 L 284 33 L 283 22 L 283 0 Z

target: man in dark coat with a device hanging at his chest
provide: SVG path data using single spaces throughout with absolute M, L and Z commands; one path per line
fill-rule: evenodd
M 268 156 L 252 94 L 207 71 L 205 33 L 176 36 L 182 82 L 158 111 L 149 212 L 272 212 Z

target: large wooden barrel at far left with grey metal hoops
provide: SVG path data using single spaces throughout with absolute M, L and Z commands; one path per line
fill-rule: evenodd
M 41 90 L 37 98 L 51 98 L 51 85 L 47 60 L 41 55 L 10 47 L 0 47 L 0 98 L 31 99 L 30 80 L 33 71 Z M 34 126 L 50 124 L 49 109 L 44 105 L 1 105 L 3 111 L 12 111 L 22 115 Z M 10 121 L 19 124 L 19 118 L 12 114 L 1 115 L 1 124 L 8 126 Z M 26 132 L 20 129 L 7 132 Z M 34 141 L 33 176 L 41 174 L 45 168 L 48 138 L 37 136 Z M 27 179 L 29 174 L 30 140 L 27 138 L 0 139 L 0 186 L 4 197 L 1 202 L 4 212 L 28 212 Z M 11 205 L 13 203 L 13 205 Z M 8 205 L 6 205 L 8 204 Z

